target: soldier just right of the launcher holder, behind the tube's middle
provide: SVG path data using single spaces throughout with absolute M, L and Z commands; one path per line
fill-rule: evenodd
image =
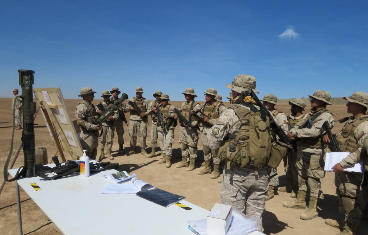
M 103 101 L 96 105 L 97 113 L 102 115 L 104 111 L 107 111 L 114 102 L 110 100 L 110 92 L 108 90 L 104 90 L 102 92 Z M 113 138 L 114 138 L 114 122 L 118 120 L 119 113 L 117 110 L 114 111 L 113 115 L 107 117 L 105 121 L 101 124 L 101 135 L 99 137 L 100 140 L 100 150 L 101 156 L 98 161 L 102 161 L 105 158 L 105 143 L 107 145 L 106 155 L 110 160 L 114 160 L 114 157 L 111 155 L 111 148 L 113 146 Z

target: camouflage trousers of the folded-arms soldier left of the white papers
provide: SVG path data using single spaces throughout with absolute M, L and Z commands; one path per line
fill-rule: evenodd
M 325 151 L 322 151 L 322 153 L 298 151 L 297 154 L 300 158 L 300 161 L 296 161 L 299 190 L 307 192 L 307 188 L 309 188 L 309 195 L 318 197 L 319 188 L 321 188 L 319 179 L 325 177 L 325 171 L 323 170 Z

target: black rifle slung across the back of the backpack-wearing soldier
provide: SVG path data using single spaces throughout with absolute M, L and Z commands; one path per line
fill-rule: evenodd
M 266 117 L 266 116 L 269 117 L 270 126 L 273 129 L 273 131 L 276 132 L 276 135 L 279 136 L 280 142 L 286 145 L 289 145 L 289 149 L 291 153 L 298 159 L 298 161 L 300 161 L 300 158 L 297 156 L 297 153 L 295 152 L 295 150 L 293 149 L 291 145 L 290 139 L 287 137 L 283 129 L 281 129 L 281 127 L 277 125 L 277 123 L 275 122 L 275 119 L 273 119 L 272 117 L 272 114 L 268 111 L 267 107 L 262 104 L 261 100 L 258 99 L 258 97 L 256 96 L 256 94 L 251 88 L 248 89 L 247 91 L 241 92 L 240 96 L 234 103 L 240 104 L 244 100 L 244 98 L 247 96 L 251 96 L 252 99 L 254 99 L 254 101 L 256 102 L 256 105 L 259 106 L 259 113 L 261 113 L 262 117 Z

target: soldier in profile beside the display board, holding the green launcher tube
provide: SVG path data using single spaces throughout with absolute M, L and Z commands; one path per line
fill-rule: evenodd
M 82 88 L 78 96 L 82 97 L 83 100 L 75 107 L 77 125 L 81 128 L 79 136 L 81 138 L 82 149 L 87 150 L 87 156 L 93 160 L 96 160 L 98 131 L 101 129 L 100 125 L 92 124 L 93 121 L 98 119 L 95 106 L 91 103 L 93 97 L 95 97 L 95 93 L 92 88 Z

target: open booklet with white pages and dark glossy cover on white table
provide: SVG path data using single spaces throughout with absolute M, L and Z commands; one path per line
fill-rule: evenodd
M 155 188 L 136 177 L 133 177 L 131 182 L 132 184 L 105 185 L 102 193 L 135 193 L 139 197 L 164 207 L 171 206 L 185 199 L 183 196 Z

